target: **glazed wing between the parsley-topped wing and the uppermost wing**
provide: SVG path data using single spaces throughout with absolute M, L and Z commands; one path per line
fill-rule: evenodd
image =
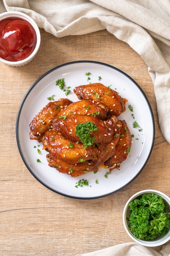
M 65 109 L 61 110 L 59 116 L 68 116 L 71 114 L 90 115 L 98 119 L 106 119 L 107 109 L 102 104 L 96 104 L 92 99 L 85 99 L 81 101 L 72 102 Z

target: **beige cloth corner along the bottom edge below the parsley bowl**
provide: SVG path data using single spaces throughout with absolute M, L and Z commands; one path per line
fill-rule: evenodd
M 163 245 L 160 252 L 135 242 L 114 245 L 106 249 L 78 254 L 76 256 L 170 256 L 170 243 Z

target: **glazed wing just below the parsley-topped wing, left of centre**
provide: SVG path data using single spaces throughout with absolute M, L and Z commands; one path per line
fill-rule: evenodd
M 54 130 L 47 131 L 43 137 L 43 149 L 48 151 L 52 157 L 62 159 L 70 164 L 77 164 L 85 160 L 97 159 L 98 149 L 96 146 L 85 148 L 81 142 L 74 141 L 58 135 Z

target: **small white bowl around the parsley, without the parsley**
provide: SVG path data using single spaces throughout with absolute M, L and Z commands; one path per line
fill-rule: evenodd
M 127 234 L 138 244 L 140 245 L 144 245 L 144 246 L 147 246 L 147 247 L 156 247 L 156 246 L 159 246 L 159 245 L 163 245 L 164 243 L 168 242 L 170 240 L 170 229 L 168 231 L 167 234 L 163 235 L 163 236 L 159 236 L 153 240 L 142 240 L 142 239 L 137 239 L 135 238 L 135 236 L 131 233 L 131 231 L 129 231 L 129 228 L 128 228 L 128 225 L 129 225 L 129 222 L 127 220 L 127 218 L 129 217 L 129 203 L 131 201 L 133 201 L 135 198 L 137 198 L 139 195 L 142 195 L 144 193 L 154 193 L 154 194 L 157 194 L 157 195 L 160 195 L 162 198 L 163 198 L 163 201 L 167 203 L 168 205 L 168 208 L 167 208 L 167 212 L 170 212 L 170 198 L 163 194 L 162 192 L 160 191 L 157 191 L 157 190 L 153 190 L 153 189 L 146 189 L 146 190 L 142 190 L 142 191 L 139 191 L 137 193 L 135 193 L 125 204 L 125 207 L 124 207 L 124 210 L 123 210 L 123 225 L 124 225 L 124 228 L 127 232 Z

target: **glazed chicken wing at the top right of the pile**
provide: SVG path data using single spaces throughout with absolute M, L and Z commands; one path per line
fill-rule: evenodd
M 126 99 L 120 97 L 118 93 L 102 83 L 91 83 L 80 85 L 74 89 L 78 99 L 92 99 L 97 104 L 106 106 L 109 115 L 119 116 L 125 111 Z

